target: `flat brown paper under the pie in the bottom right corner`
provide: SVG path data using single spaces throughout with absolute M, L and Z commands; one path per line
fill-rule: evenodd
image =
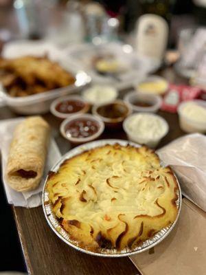
M 206 213 L 183 199 L 174 230 L 155 248 L 130 256 L 143 275 L 205 275 Z

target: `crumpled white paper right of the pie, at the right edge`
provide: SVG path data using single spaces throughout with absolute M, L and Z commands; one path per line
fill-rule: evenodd
M 157 151 L 164 164 L 172 166 L 183 195 L 206 211 L 206 137 L 185 135 Z

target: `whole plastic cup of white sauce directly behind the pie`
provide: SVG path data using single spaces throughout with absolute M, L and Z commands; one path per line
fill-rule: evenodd
M 169 131 L 168 122 L 153 113 L 133 113 L 123 123 L 128 140 L 155 148 Z

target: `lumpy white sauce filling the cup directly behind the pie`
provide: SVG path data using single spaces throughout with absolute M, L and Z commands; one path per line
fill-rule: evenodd
M 151 140 L 165 133 L 165 124 L 155 115 L 138 114 L 130 119 L 128 130 L 132 135 Z

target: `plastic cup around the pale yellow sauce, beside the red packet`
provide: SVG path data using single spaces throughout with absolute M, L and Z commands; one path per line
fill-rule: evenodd
M 159 91 L 155 91 L 154 89 L 150 89 L 150 90 L 146 90 L 146 89 L 141 89 L 141 87 L 139 87 L 139 85 L 141 85 L 142 83 L 150 83 L 150 82 L 163 82 L 165 85 L 165 87 L 162 87 L 162 89 L 160 89 Z M 138 83 L 135 83 L 134 85 L 135 90 L 138 91 L 139 93 L 143 93 L 143 94 L 155 94 L 155 95 L 163 95 L 165 94 L 166 91 L 168 91 L 168 87 L 169 87 L 169 83 L 167 80 L 165 80 L 165 78 L 161 77 L 161 76 L 148 76 L 147 78 L 144 78 L 144 80 L 141 80 Z

